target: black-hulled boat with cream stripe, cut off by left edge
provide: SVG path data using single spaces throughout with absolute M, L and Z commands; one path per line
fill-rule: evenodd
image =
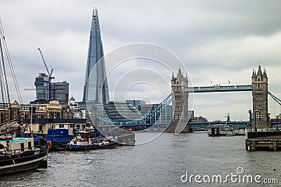
M 37 169 L 47 156 L 47 145 L 33 138 L 0 137 L 0 175 Z

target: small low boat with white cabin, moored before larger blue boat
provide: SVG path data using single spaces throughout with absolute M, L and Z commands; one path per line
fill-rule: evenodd
M 74 139 L 67 144 L 67 150 L 86 151 L 91 149 L 115 148 L 117 141 L 105 137 L 91 137 L 91 132 L 74 132 Z

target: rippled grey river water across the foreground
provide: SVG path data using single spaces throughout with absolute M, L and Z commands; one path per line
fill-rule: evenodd
M 137 144 L 157 135 L 138 133 Z M 164 133 L 138 146 L 51 152 L 47 168 L 0 176 L 0 186 L 279 186 L 273 182 L 281 183 L 280 152 L 245 151 L 245 138 Z M 245 175 L 253 183 L 243 183 Z

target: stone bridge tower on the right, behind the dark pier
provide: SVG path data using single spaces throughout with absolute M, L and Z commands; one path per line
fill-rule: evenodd
M 259 64 L 258 72 L 253 69 L 251 76 L 252 95 L 253 95 L 253 123 L 256 121 L 256 129 L 265 129 L 268 126 L 268 76 L 266 69 L 261 71 Z

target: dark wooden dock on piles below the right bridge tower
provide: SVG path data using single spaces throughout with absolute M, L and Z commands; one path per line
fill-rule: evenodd
M 248 132 L 247 151 L 281 151 L 281 132 Z

